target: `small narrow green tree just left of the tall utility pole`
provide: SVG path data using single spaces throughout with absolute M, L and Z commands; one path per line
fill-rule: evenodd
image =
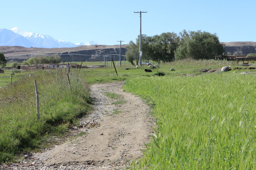
M 133 66 L 135 66 L 133 62 L 135 60 L 137 65 L 139 60 L 139 51 L 137 50 L 137 44 L 135 44 L 133 41 L 130 41 L 129 45 L 127 46 L 127 51 L 125 55 L 128 62 L 130 62 Z

